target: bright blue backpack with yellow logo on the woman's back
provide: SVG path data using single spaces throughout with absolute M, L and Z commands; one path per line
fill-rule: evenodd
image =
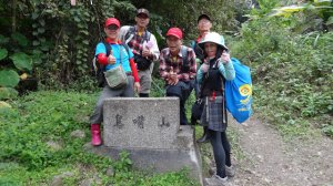
M 238 59 L 231 58 L 235 70 L 235 78 L 225 81 L 226 108 L 239 122 L 245 122 L 252 115 L 252 81 L 250 68 Z

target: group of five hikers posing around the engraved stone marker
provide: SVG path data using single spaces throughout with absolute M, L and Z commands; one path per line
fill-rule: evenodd
M 211 142 L 216 164 L 216 173 L 205 178 L 205 182 L 210 185 L 228 185 L 228 177 L 234 176 L 234 169 L 226 137 L 224 82 L 234 79 L 235 71 L 224 39 L 219 33 L 211 32 L 211 18 L 201 14 L 198 18 L 200 34 L 193 46 L 183 45 L 181 29 L 170 28 L 165 35 L 168 48 L 160 52 L 154 34 L 147 30 L 149 21 L 149 11 L 139 9 L 137 24 L 133 27 L 121 27 L 115 18 L 109 18 L 104 23 L 107 38 L 95 48 L 97 61 L 105 72 L 121 66 L 128 83 L 113 89 L 104 82 L 90 117 L 91 143 L 94 146 L 102 143 L 100 125 L 103 121 L 103 101 L 114 96 L 133 97 L 134 91 L 140 97 L 149 97 L 153 62 L 158 61 L 160 76 L 165 81 L 167 96 L 176 96 L 180 100 L 181 125 L 189 124 L 185 102 L 193 90 L 195 96 L 204 102 L 200 118 L 204 135 L 198 142 Z

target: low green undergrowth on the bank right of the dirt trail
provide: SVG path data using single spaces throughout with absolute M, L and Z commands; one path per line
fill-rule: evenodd
M 252 68 L 256 113 L 283 134 L 309 135 L 319 126 L 330 135 L 333 32 L 300 34 L 297 18 L 248 21 L 232 52 Z

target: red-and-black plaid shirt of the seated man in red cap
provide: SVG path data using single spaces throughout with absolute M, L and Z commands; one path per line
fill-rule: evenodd
M 186 48 L 183 46 L 182 48 Z M 196 63 L 195 63 L 195 53 L 191 48 L 186 48 L 188 51 L 188 64 L 189 71 L 182 72 L 183 65 L 183 56 L 181 50 L 179 51 L 176 56 L 172 56 L 169 48 L 165 48 L 161 51 L 160 54 L 160 75 L 164 81 L 168 81 L 168 75 L 170 72 L 170 68 L 173 68 L 173 72 L 178 74 L 178 79 L 180 81 L 190 81 L 195 79 L 196 74 Z

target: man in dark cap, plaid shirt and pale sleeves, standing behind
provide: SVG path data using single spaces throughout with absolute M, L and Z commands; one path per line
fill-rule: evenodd
M 147 9 L 138 9 L 133 27 L 124 25 L 120 29 L 120 39 L 125 42 L 134 53 L 134 62 L 139 71 L 141 90 L 140 97 L 149 97 L 153 62 L 159 59 L 160 50 L 154 34 L 147 30 L 150 14 Z

